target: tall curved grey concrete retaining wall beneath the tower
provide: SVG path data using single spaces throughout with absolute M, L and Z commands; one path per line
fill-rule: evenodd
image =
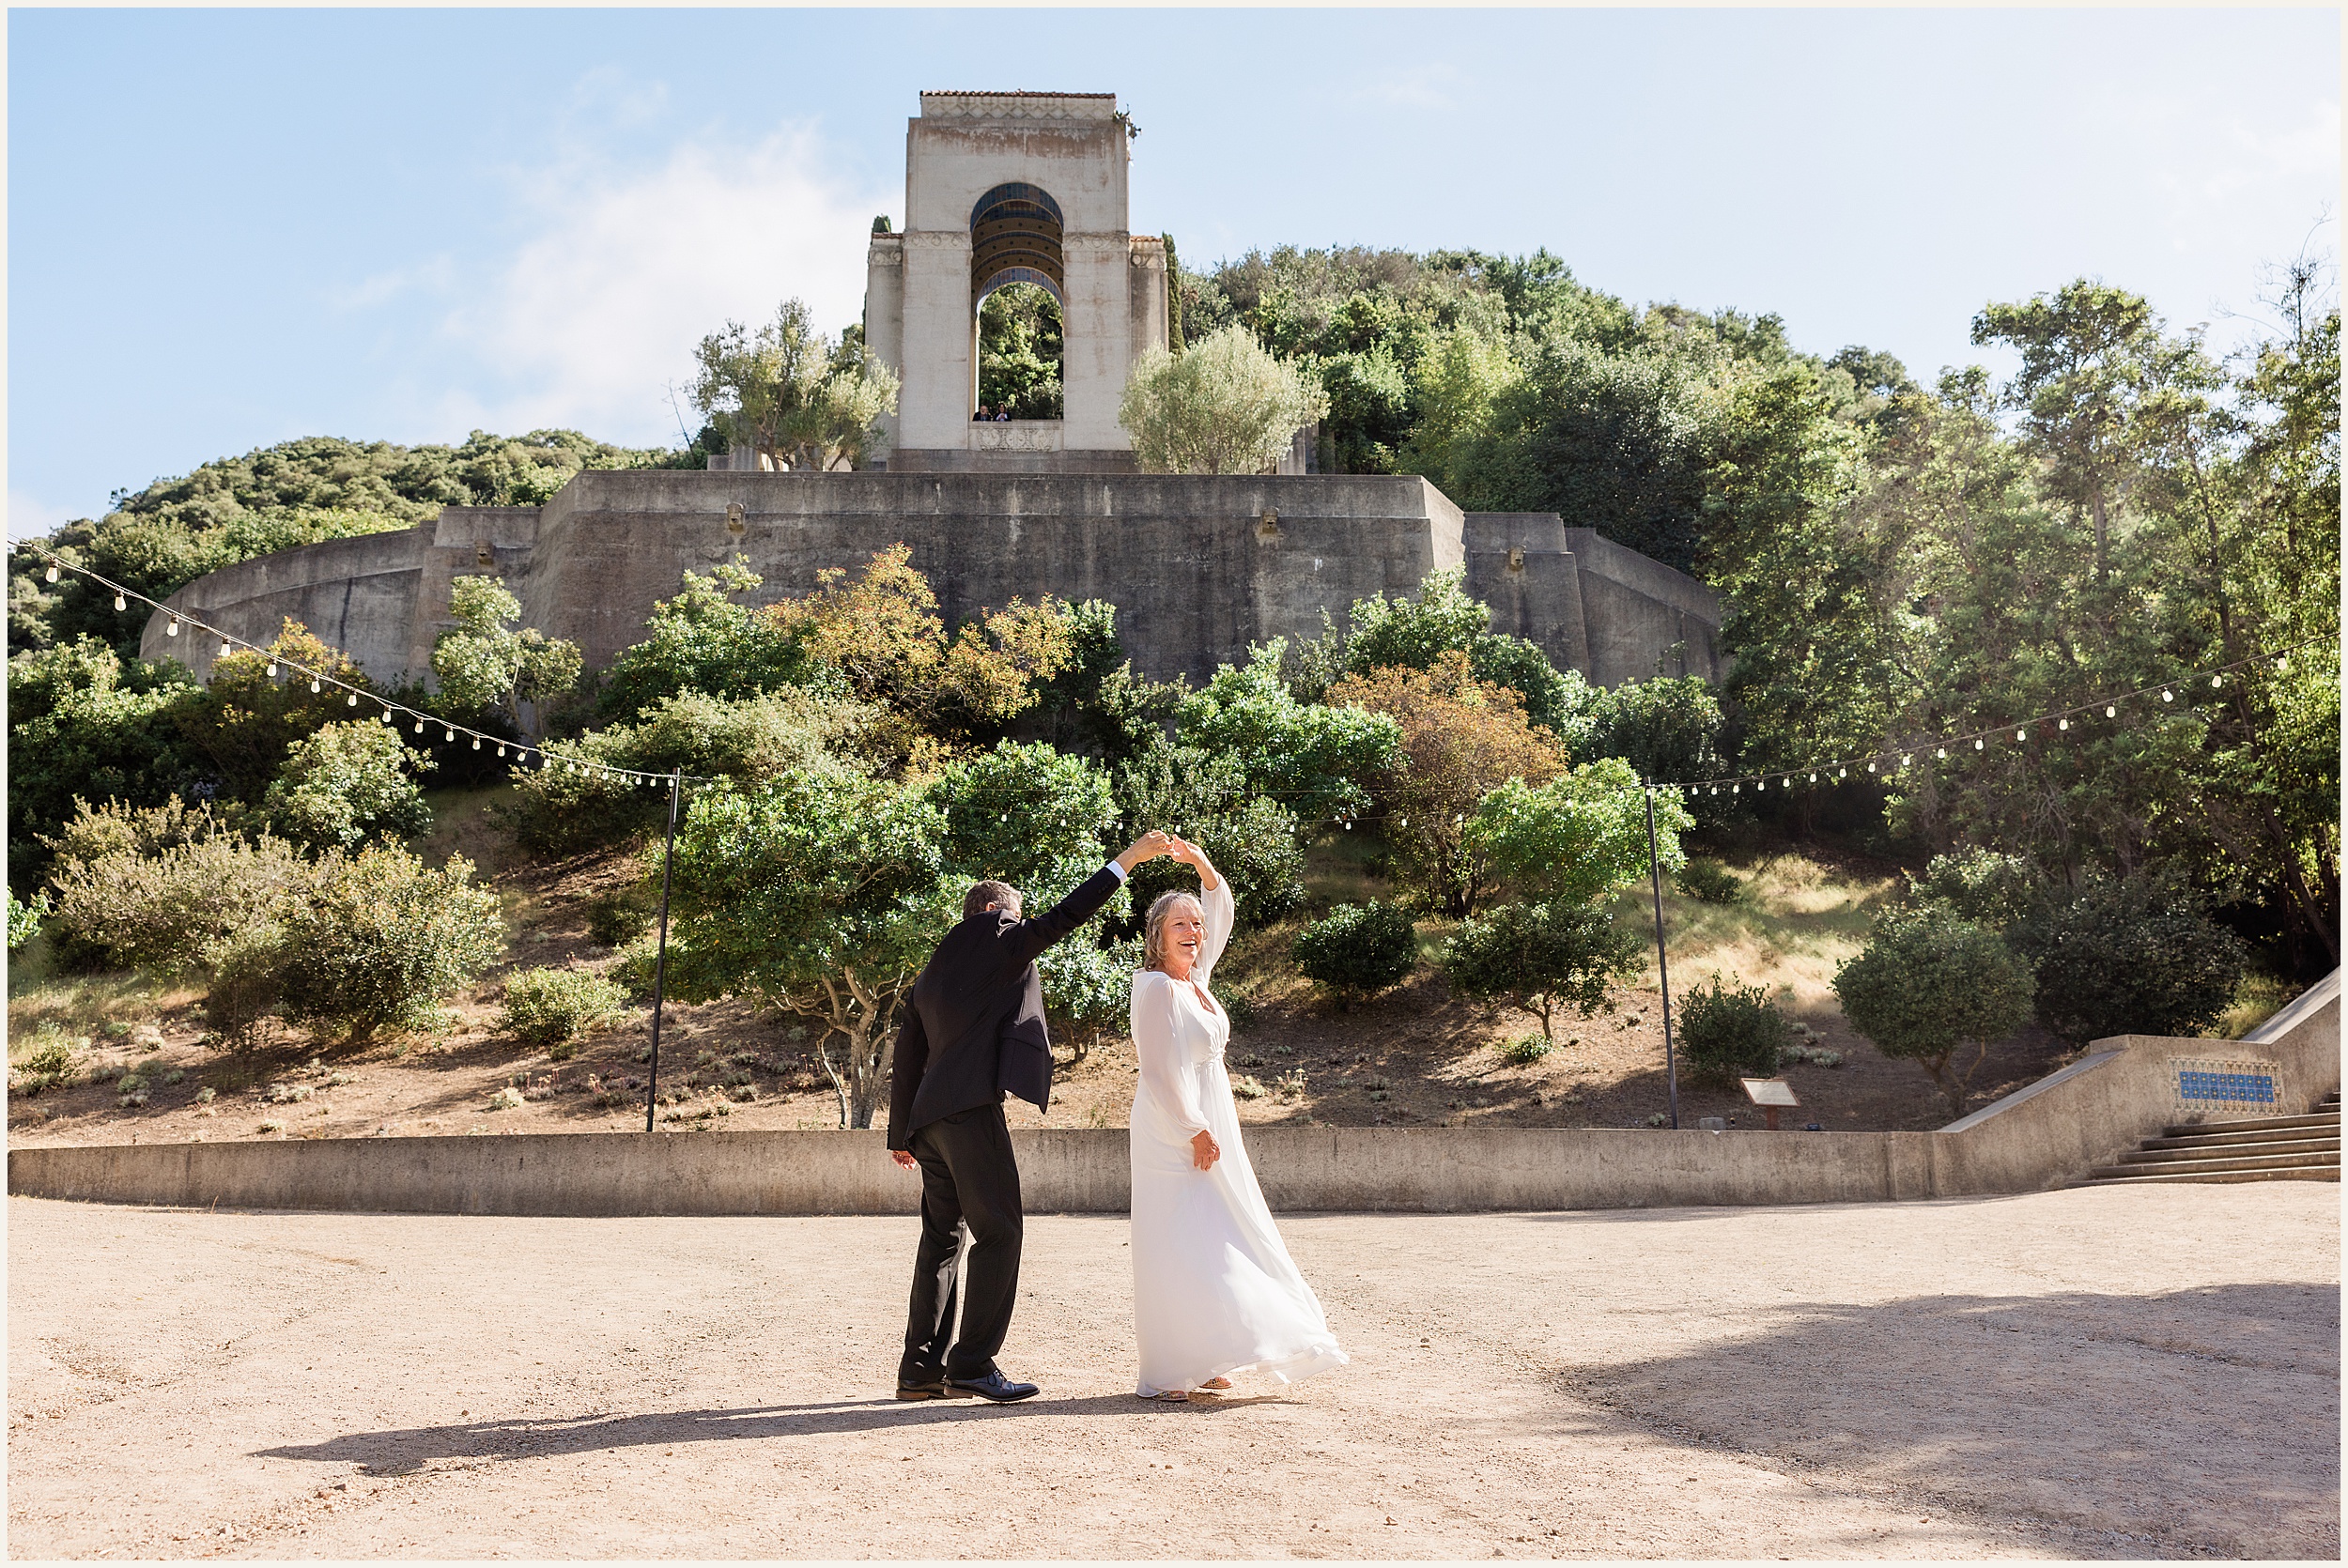
M 1479 547 L 1468 533 L 1460 509 L 1409 474 L 585 472 L 545 507 L 446 507 L 404 533 L 228 566 L 167 603 L 256 643 L 291 615 L 397 683 L 430 674 L 448 582 L 495 573 L 526 624 L 578 641 L 603 669 L 686 570 L 742 554 L 765 577 L 756 599 L 775 601 L 904 542 L 949 622 L 1014 596 L 1106 599 L 1141 674 L 1205 678 L 1244 662 L 1249 643 L 1317 636 L 1322 610 L 1343 624 L 1357 599 L 1468 566 L 1496 627 L 1594 681 L 1653 676 L 1674 643 L 1686 646 L 1674 674 L 1719 674 L 1719 601 L 1700 582 L 1554 514 L 1500 516 L 1475 530 Z M 1566 549 L 1568 533 L 1590 542 Z M 141 653 L 204 674 L 218 643 L 164 636 L 167 620 L 148 622 Z

